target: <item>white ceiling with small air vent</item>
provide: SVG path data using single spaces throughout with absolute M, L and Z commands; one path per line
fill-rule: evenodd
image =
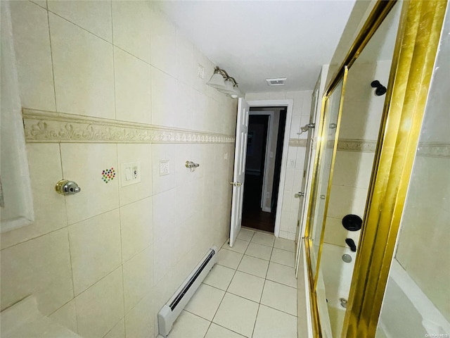
M 158 1 L 158 6 L 249 93 L 313 89 L 354 1 Z M 265 79 L 271 77 L 288 80 L 269 87 Z

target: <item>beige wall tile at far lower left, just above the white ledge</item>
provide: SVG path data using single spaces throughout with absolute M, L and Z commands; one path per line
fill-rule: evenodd
M 73 298 L 67 229 L 1 251 L 1 309 L 30 294 L 44 315 Z

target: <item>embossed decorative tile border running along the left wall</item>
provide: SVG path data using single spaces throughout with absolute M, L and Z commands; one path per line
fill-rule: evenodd
M 233 143 L 234 135 L 23 108 L 28 143 Z

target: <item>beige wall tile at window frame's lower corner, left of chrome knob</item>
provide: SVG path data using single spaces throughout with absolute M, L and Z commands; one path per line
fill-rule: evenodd
M 65 227 L 68 223 L 64 197 L 55 192 L 55 184 L 62 178 L 59 145 L 27 144 L 27 158 L 33 193 L 34 223 L 1 234 L 2 249 Z

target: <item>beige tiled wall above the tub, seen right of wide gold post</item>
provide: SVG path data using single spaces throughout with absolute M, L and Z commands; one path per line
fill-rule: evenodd
M 450 321 L 449 32 L 447 6 L 395 254 L 446 319 L 446 331 Z M 385 306 L 390 304 L 383 304 L 383 309 Z M 423 311 L 424 306 L 418 308 Z M 445 327 L 442 319 L 433 315 L 433 320 Z

